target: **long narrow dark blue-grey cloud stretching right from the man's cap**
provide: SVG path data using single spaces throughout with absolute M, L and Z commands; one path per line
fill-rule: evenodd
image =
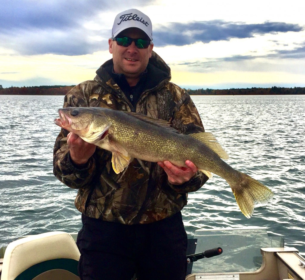
M 197 21 L 190 23 L 169 23 L 157 26 L 153 32 L 156 45 L 184 46 L 195 42 L 228 41 L 231 38 L 251 38 L 259 34 L 275 34 L 278 32 L 300 32 L 299 24 L 284 22 L 264 22 L 247 24 L 226 22 L 224 20 Z

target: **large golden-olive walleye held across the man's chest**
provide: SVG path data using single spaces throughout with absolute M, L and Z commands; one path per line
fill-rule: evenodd
M 266 203 L 274 193 L 224 162 L 228 154 L 212 133 L 181 134 L 163 120 L 109 108 L 67 107 L 58 110 L 56 125 L 84 141 L 112 152 L 112 167 L 119 174 L 132 158 L 177 166 L 192 161 L 199 170 L 224 178 L 231 186 L 242 213 L 250 218 L 256 203 Z

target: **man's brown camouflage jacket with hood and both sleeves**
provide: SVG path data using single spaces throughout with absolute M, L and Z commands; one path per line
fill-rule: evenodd
M 94 80 L 72 88 L 63 107 L 135 111 L 167 120 L 181 133 L 204 131 L 190 96 L 169 82 L 170 68 L 155 52 L 147 66 L 148 84 L 135 108 L 105 70 L 111 65 L 112 59 L 97 70 Z M 88 217 L 129 225 L 155 222 L 180 211 L 187 203 L 187 193 L 198 190 L 207 180 L 198 171 L 188 182 L 172 185 L 159 165 L 144 162 L 150 168 L 148 174 L 137 159 L 129 164 L 124 175 L 117 175 L 112 169 L 111 152 L 99 147 L 85 166 L 77 167 L 70 160 L 67 133 L 62 129 L 56 138 L 53 172 L 61 182 L 78 189 L 75 206 Z

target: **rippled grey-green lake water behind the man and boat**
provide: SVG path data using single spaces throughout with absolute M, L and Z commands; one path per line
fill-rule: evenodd
M 183 210 L 196 229 L 265 227 L 305 252 L 305 96 L 192 96 L 235 169 L 268 186 L 275 197 L 252 218 L 239 211 L 230 186 L 214 175 L 190 193 Z M 52 172 L 53 123 L 63 96 L 0 95 L 0 247 L 27 234 L 77 232 L 76 190 Z M 210 249 L 210 248 L 206 248 Z

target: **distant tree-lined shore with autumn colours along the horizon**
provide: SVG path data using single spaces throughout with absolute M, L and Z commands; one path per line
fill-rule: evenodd
M 1 86 L 1 85 L 0 85 Z M 0 95 L 65 95 L 71 86 L 0 87 Z M 189 95 L 296 95 L 305 94 L 305 87 L 252 87 L 197 90 L 184 89 Z

